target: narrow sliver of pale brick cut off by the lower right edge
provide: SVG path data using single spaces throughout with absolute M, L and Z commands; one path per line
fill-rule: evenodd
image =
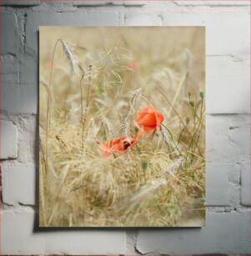
M 241 167 L 241 203 L 245 206 L 251 205 L 250 198 L 250 162 L 242 164 Z

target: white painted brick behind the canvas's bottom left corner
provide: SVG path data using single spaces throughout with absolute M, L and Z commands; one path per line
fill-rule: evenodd
M 1 212 L 3 254 L 124 254 L 125 232 L 118 229 L 55 230 L 36 227 L 35 212 Z

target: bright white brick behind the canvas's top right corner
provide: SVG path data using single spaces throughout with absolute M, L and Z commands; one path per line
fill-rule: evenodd
M 166 10 L 165 26 L 206 26 L 208 55 L 249 54 L 249 8 L 242 11 L 227 8 L 189 8 Z M 239 39 L 241 38 L 241 40 Z

